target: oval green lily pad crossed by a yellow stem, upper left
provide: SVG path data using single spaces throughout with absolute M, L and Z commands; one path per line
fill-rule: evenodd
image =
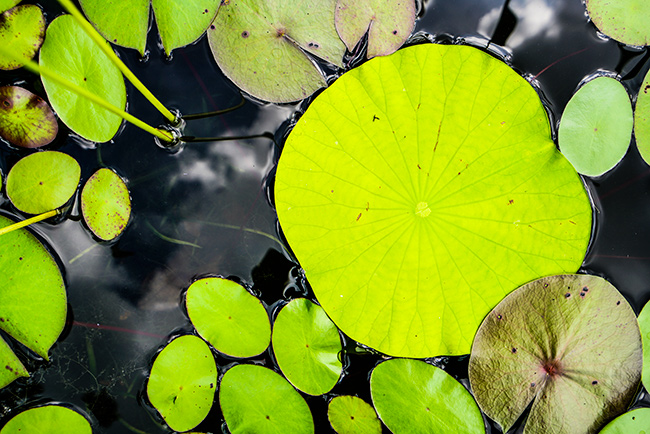
M 71 15 L 62 15 L 50 23 L 40 65 L 115 107 L 126 107 L 122 73 Z M 41 80 L 54 111 L 75 133 L 93 142 L 106 142 L 117 133 L 122 118 L 46 77 Z

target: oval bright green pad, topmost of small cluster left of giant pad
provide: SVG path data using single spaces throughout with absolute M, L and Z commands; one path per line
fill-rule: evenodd
M 218 351 L 252 357 L 269 346 L 266 309 L 240 284 L 220 277 L 199 279 L 188 288 L 185 303 L 196 331 Z

